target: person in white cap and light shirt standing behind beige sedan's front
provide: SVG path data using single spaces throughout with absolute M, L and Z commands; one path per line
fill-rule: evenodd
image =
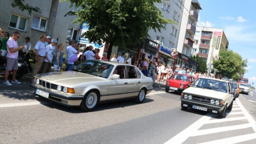
M 51 44 L 46 46 L 46 57 L 39 73 L 46 73 L 51 71 L 56 43 L 58 43 L 58 41 L 53 38 L 51 40 Z

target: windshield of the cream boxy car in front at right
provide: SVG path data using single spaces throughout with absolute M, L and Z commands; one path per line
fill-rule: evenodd
M 209 90 L 217 90 L 220 92 L 225 92 L 227 93 L 227 82 L 224 81 L 218 81 L 216 80 L 210 80 L 210 79 L 204 79 L 204 78 L 199 78 L 197 79 L 191 87 L 198 87 L 202 89 L 209 89 Z

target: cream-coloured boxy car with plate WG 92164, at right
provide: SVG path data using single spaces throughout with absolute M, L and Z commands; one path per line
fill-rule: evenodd
M 182 109 L 193 108 L 226 117 L 233 106 L 234 91 L 229 81 L 199 78 L 181 95 Z

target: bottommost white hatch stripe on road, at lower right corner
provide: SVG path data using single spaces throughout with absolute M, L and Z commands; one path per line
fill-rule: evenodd
M 245 141 L 249 141 L 256 138 L 256 133 L 247 134 L 247 135 L 239 135 L 229 138 L 223 138 L 215 141 L 200 143 L 200 144 L 237 144 Z

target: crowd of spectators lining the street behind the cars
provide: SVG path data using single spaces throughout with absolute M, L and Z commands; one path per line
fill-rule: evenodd
M 33 48 L 33 54 L 35 54 L 35 66 L 34 70 L 32 70 L 32 67 L 29 62 L 29 52 L 31 51 L 31 44 L 30 44 L 30 37 L 25 37 L 25 45 L 24 46 L 18 46 L 17 40 L 20 37 L 20 33 L 15 31 L 12 36 L 9 36 L 8 32 L 4 32 L 2 28 L 0 28 L 0 36 L 3 36 L 4 38 L 0 41 L 0 47 L 1 47 L 1 55 L 5 56 L 7 59 L 7 66 L 6 66 L 6 72 L 5 72 L 5 80 L 4 84 L 6 85 L 12 85 L 11 83 L 20 83 L 15 79 L 16 73 L 18 71 L 18 51 L 22 50 L 24 57 L 27 61 L 28 70 L 32 73 L 32 82 L 34 81 L 34 76 L 39 73 L 46 73 L 51 71 L 52 65 L 54 66 L 54 72 L 62 72 L 62 71 L 70 71 L 73 69 L 75 61 L 72 60 L 72 57 L 75 55 L 77 57 L 79 52 L 79 48 L 81 47 L 80 44 L 76 44 L 74 40 L 69 41 L 69 45 L 66 48 L 66 56 L 64 57 L 63 44 L 57 44 L 58 41 L 55 38 L 52 38 L 51 36 L 41 35 L 40 39 L 37 41 L 35 47 Z M 57 45 L 56 45 L 57 44 Z M 103 61 L 109 61 L 107 58 L 107 53 L 104 52 L 102 54 L 102 57 L 99 56 L 100 49 L 93 50 L 93 46 L 87 46 L 82 54 L 80 54 L 79 61 L 87 61 L 87 60 L 103 60 Z M 190 69 L 181 69 L 179 67 L 176 67 L 176 69 L 173 71 L 171 66 L 166 66 L 165 63 L 158 64 L 156 62 L 150 61 L 149 58 L 145 57 L 143 59 L 137 60 L 137 58 L 133 55 L 129 55 L 127 59 L 126 53 L 122 53 L 121 55 L 118 55 L 116 53 L 112 54 L 110 57 L 110 61 L 112 62 L 119 62 L 119 63 L 128 63 L 131 65 L 137 66 L 141 72 L 147 76 L 151 77 L 153 80 L 153 83 L 155 84 L 155 81 L 166 81 L 170 79 L 175 73 L 183 73 L 183 74 L 189 74 L 195 77 L 196 79 L 198 77 L 206 76 L 206 74 L 192 72 Z M 13 73 L 12 75 L 12 81 L 8 81 L 8 75 L 9 72 Z

